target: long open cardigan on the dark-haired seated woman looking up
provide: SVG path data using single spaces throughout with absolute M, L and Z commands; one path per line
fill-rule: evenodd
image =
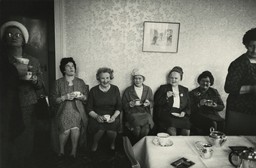
M 88 98 L 89 86 L 87 86 L 84 83 L 84 80 L 81 80 L 75 77 L 75 79 L 73 80 L 73 86 L 74 86 L 74 91 L 80 91 L 86 98 Z M 52 123 L 51 123 L 51 130 L 50 130 L 51 142 L 50 143 L 53 148 L 53 151 L 56 151 L 56 153 L 59 153 L 59 137 L 58 137 L 59 136 L 59 130 L 58 130 L 59 117 L 60 115 L 62 115 L 62 111 L 66 106 L 66 101 L 63 101 L 62 103 L 58 104 L 56 99 L 68 93 L 69 93 L 69 82 L 66 80 L 65 77 L 62 77 L 53 83 L 53 86 L 50 92 L 50 104 L 52 104 L 56 115 L 55 115 L 55 118 L 52 119 Z M 87 101 L 81 101 L 81 100 L 75 99 L 75 104 L 82 118 L 81 136 L 79 139 L 79 144 L 85 145 L 85 146 L 87 145 L 86 135 L 87 135 L 87 124 L 89 121 L 88 115 L 85 112 L 85 108 L 84 108 L 86 103 Z

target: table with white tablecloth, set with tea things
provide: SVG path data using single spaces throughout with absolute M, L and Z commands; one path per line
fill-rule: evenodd
M 172 162 L 181 157 L 192 160 L 195 164 L 191 167 L 222 167 L 233 168 L 228 160 L 231 149 L 228 146 L 247 146 L 256 147 L 255 136 L 227 136 L 227 142 L 223 146 L 217 148 L 212 147 L 213 155 L 210 159 L 200 157 L 195 143 L 197 141 L 207 143 L 209 136 L 170 136 L 173 145 L 160 146 L 154 145 L 155 136 L 145 136 L 135 145 L 133 151 L 136 159 L 142 168 L 168 168 L 173 167 Z

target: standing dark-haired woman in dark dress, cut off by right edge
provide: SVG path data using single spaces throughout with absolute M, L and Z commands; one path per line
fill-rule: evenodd
M 227 135 L 256 135 L 256 28 L 246 31 L 247 51 L 231 62 L 225 82 Z

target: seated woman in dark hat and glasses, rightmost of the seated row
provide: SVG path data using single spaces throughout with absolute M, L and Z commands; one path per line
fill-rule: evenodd
M 212 73 L 204 71 L 197 78 L 197 83 L 200 86 L 189 93 L 192 123 L 200 127 L 204 135 L 209 135 L 210 127 L 223 131 L 225 120 L 218 112 L 224 109 L 224 103 L 218 91 L 210 87 L 214 83 Z M 212 101 L 212 103 L 207 101 Z

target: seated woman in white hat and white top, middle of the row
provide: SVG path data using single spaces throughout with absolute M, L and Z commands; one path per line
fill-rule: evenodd
M 145 86 L 145 74 L 143 69 L 133 70 L 133 83 L 123 92 L 123 111 L 125 112 L 126 127 L 133 131 L 136 139 L 147 136 L 154 126 L 151 117 L 151 109 L 154 106 L 154 97 L 150 87 Z M 136 104 L 136 99 L 140 104 Z

